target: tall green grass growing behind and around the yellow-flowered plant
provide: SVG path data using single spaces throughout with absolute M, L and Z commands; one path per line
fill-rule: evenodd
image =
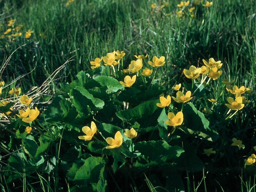
M 28 29 L 33 31 L 27 39 L 23 35 L 15 41 L 9 41 L 6 37 L 0 39 L 2 64 L 14 50 L 24 45 L 12 55 L 1 76 L 2 80 L 22 86 L 23 92 L 27 92 L 33 86 L 41 86 L 47 78 L 52 78 L 50 74 L 59 68 L 57 76 L 54 75 L 56 80 L 52 82 L 54 89 L 58 89 L 59 84 L 74 80 L 79 71 L 90 69 L 90 61 L 96 57 L 114 50 L 124 50 L 124 66 L 127 67 L 130 60 L 134 60 L 133 55 L 149 54 L 150 60 L 154 55 L 165 56 L 166 65 L 158 70 L 156 79 L 161 78 L 167 94 L 173 94 L 171 88 L 176 83 L 187 81 L 182 75 L 184 68 L 188 69 L 190 65 L 202 66 L 202 59 L 208 60 L 211 57 L 223 63 L 224 72 L 220 79 L 234 79 L 235 85 L 239 87 L 244 85 L 254 88 L 255 2 L 214 0 L 211 7 L 196 5 L 196 17 L 190 17 L 189 12 L 186 12 L 181 18 L 176 14 L 179 2 L 75 0 L 66 6 L 66 0 L 0 0 L 0 36 L 7 30 L 6 25 L 10 19 L 16 19 L 15 26 L 23 25 L 22 34 Z M 156 3 L 156 7 L 152 9 L 153 3 Z M 168 5 L 160 9 L 165 3 Z M 66 63 L 70 58 L 73 60 Z M 26 76 L 21 80 L 18 77 L 22 75 Z M 226 102 L 224 94 L 220 95 L 223 87 L 214 81 L 211 86 L 214 90 L 212 98 L 219 97 L 221 101 Z M 255 96 L 252 98 L 255 99 Z M 208 104 L 203 98 L 197 105 L 203 110 Z M 255 102 L 252 101 L 247 105 L 246 114 L 240 114 L 241 118 L 229 122 L 234 130 L 228 133 L 230 137 L 237 134 L 248 137 L 251 146 L 255 145 L 254 108 Z M 222 139 L 226 136 L 223 135 Z M 58 157 L 58 146 L 55 146 L 55 150 Z M 220 166 L 222 161 L 216 160 Z M 230 163 L 229 161 L 233 164 L 235 160 L 227 160 L 225 164 Z M 228 172 L 233 174 L 234 170 Z M 58 185 L 57 174 L 55 172 L 55 185 Z M 46 190 L 49 181 L 40 173 L 38 177 L 42 188 Z M 214 174 L 209 174 L 209 178 L 213 177 Z M 26 181 L 26 177 L 23 178 Z M 191 182 L 194 177 L 188 175 L 188 178 L 188 189 L 199 190 L 203 187 L 202 189 L 207 191 L 205 180 L 201 183 L 202 177 L 196 179 L 201 183 L 200 187 L 192 187 L 191 183 L 195 183 Z M 3 179 L 1 177 L 1 180 Z M 246 188 L 247 191 L 253 191 L 255 181 L 252 178 L 245 178 L 245 181 L 242 178 L 236 179 L 238 183 L 241 181 L 241 190 Z M 151 191 L 157 190 L 148 178 L 146 182 Z M 23 187 L 26 190 L 25 186 Z M 219 190 L 222 187 L 225 188 L 220 186 Z

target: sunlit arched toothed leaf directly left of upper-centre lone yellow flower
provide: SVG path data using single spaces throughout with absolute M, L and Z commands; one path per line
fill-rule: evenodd
M 92 89 L 93 87 L 104 87 L 107 86 L 107 93 L 115 93 L 119 90 L 124 90 L 124 87 L 119 83 L 118 80 L 110 76 L 97 76 L 94 79 L 89 80 L 85 84 L 85 89 Z

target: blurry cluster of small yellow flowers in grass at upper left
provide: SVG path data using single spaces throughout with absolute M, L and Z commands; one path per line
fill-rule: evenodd
M 7 23 L 7 30 L 2 33 L 2 35 L 0 35 L 0 39 L 1 38 L 8 38 L 9 41 L 15 41 L 15 39 L 17 37 L 20 37 L 22 36 L 22 32 L 20 32 L 21 28 L 23 27 L 23 25 L 17 25 L 15 26 L 15 21 L 16 19 L 11 19 L 8 21 Z M 33 31 L 31 30 L 28 30 L 25 35 L 24 35 L 24 38 L 30 38 L 31 36 L 31 33 L 33 33 Z

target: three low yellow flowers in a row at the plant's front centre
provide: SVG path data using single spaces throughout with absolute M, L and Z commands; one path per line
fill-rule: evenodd
M 82 127 L 82 132 L 84 132 L 86 135 L 79 136 L 78 138 L 85 141 L 90 141 L 94 137 L 94 134 L 97 132 L 96 124 L 92 121 L 91 128 L 88 126 Z M 137 137 L 137 131 L 135 131 L 133 128 L 131 128 L 130 130 L 126 129 L 124 135 L 129 139 L 133 139 Z M 106 138 L 106 142 L 108 144 L 106 146 L 106 149 L 118 148 L 123 143 L 123 135 L 120 131 L 117 131 L 114 135 L 114 138 L 108 137 Z

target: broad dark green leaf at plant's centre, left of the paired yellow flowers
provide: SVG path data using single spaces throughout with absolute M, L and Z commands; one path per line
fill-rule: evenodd
M 157 119 L 162 111 L 156 105 L 159 100 L 144 102 L 133 109 L 117 112 L 117 117 L 131 124 L 138 122 L 140 127 L 156 126 Z

